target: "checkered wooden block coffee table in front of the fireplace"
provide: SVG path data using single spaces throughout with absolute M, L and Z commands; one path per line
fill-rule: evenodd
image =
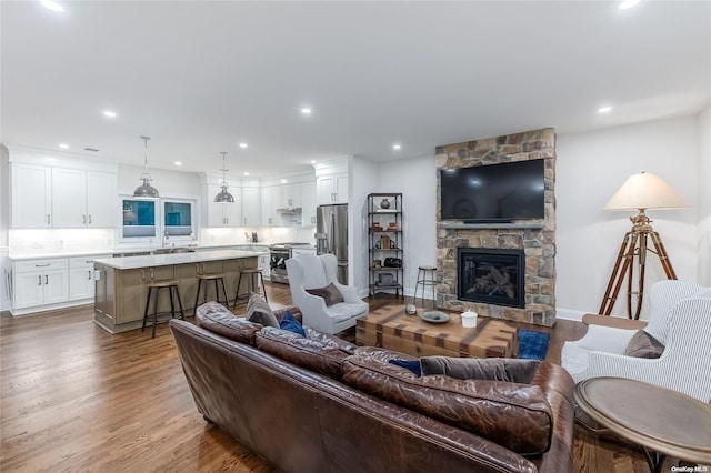
M 479 318 L 475 328 L 465 329 L 459 313 L 449 315 L 449 322 L 430 323 L 418 315 L 407 315 L 404 305 L 385 305 L 358 319 L 356 343 L 413 356 L 515 356 L 518 340 L 513 323 Z

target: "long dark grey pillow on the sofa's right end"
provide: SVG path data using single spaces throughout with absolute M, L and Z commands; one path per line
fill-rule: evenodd
M 505 358 L 423 356 L 422 375 L 447 374 L 459 380 L 508 381 L 529 384 L 538 370 L 538 360 Z

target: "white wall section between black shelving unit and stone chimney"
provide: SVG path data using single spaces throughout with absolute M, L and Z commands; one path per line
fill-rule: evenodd
M 379 170 L 375 192 L 402 192 L 403 286 L 407 295 L 413 295 L 418 266 L 437 265 L 434 154 L 383 162 Z

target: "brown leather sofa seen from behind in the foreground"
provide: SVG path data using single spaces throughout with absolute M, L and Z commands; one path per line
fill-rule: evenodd
M 573 383 L 558 365 L 537 364 L 518 390 L 462 388 L 471 380 L 388 363 L 394 352 L 262 328 L 220 308 L 201 306 L 200 326 L 170 321 L 198 411 L 284 472 L 572 470 Z

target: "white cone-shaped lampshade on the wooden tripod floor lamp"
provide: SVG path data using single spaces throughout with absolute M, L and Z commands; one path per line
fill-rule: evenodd
M 604 210 L 683 209 L 687 201 L 659 175 L 632 174 L 603 207 Z

